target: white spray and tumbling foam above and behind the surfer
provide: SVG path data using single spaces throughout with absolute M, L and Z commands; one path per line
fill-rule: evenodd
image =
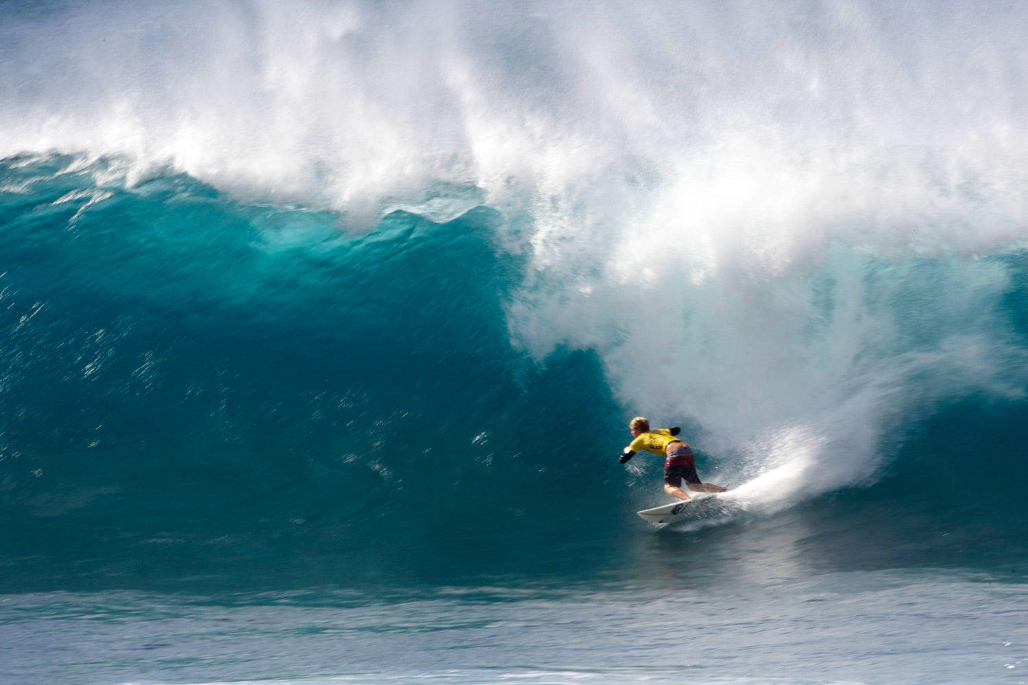
M 0 155 L 171 163 L 357 229 L 498 207 L 527 264 L 516 344 L 596 350 L 626 411 L 692 421 L 774 497 L 873 478 L 886 427 L 941 398 L 1023 390 L 995 311 L 1008 272 L 978 257 L 1028 238 L 1026 6 L 8 18 Z

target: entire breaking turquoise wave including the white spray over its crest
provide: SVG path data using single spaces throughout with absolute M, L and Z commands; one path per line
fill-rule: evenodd
M 602 568 L 637 414 L 759 519 L 1009 521 L 1024 9 L 109 8 L 2 8 L 25 577 Z

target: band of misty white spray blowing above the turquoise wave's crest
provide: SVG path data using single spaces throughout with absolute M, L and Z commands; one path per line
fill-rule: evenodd
M 1024 237 L 1020 7 L 119 8 L 4 8 L 0 155 L 171 162 L 365 228 L 447 184 L 554 228 L 586 200 L 651 235 L 688 214 L 698 262 L 723 235 L 774 262 L 811 217 L 901 250 Z

